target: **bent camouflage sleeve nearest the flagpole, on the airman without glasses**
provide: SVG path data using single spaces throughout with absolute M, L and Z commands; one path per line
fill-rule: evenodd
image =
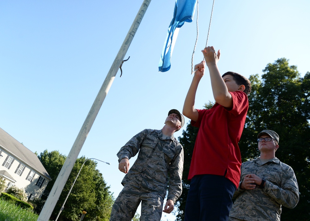
M 132 137 L 116 154 L 118 157 L 118 163 L 122 158 L 130 159 L 134 157 L 140 150 L 140 146 L 143 143 L 144 138 L 147 135 L 147 129 L 139 132 Z

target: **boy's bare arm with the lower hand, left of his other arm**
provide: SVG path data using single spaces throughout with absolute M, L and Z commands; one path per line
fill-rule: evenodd
M 183 115 L 193 121 L 197 121 L 198 119 L 198 111 L 195 109 L 195 97 L 199 81 L 205 73 L 205 62 L 202 61 L 201 63 L 196 64 L 194 69 L 197 68 L 198 70 L 194 74 L 192 83 L 188 89 L 183 106 Z

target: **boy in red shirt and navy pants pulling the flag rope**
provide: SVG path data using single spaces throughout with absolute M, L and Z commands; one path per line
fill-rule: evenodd
M 188 179 L 191 184 L 185 206 L 185 221 L 227 220 L 232 196 L 240 180 L 241 155 L 238 147 L 246 113 L 250 81 L 240 74 L 220 75 L 217 67 L 220 51 L 202 50 L 210 72 L 215 105 L 209 110 L 194 108 L 197 87 L 205 72 L 205 62 L 198 69 L 185 98 L 183 115 L 199 127 Z

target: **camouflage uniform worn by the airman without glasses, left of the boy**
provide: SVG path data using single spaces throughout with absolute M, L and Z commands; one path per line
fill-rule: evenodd
M 182 193 L 184 153 L 171 135 L 163 139 L 162 130 L 145 129 L 131 138 L 117 153 L 118 161 L 135 156 L 133 166 L 122 180 L 124 186 L 112 207 L 110 220 L 131 220 L 142 201 L 140 220 L 160 220 L 166 196 L 176 201 Z

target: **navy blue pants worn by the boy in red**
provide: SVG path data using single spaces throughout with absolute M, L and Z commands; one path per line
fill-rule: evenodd
M 224 176 L 195 175 L 189 186 L 184 221 L 227 221 L 236 186 Z

